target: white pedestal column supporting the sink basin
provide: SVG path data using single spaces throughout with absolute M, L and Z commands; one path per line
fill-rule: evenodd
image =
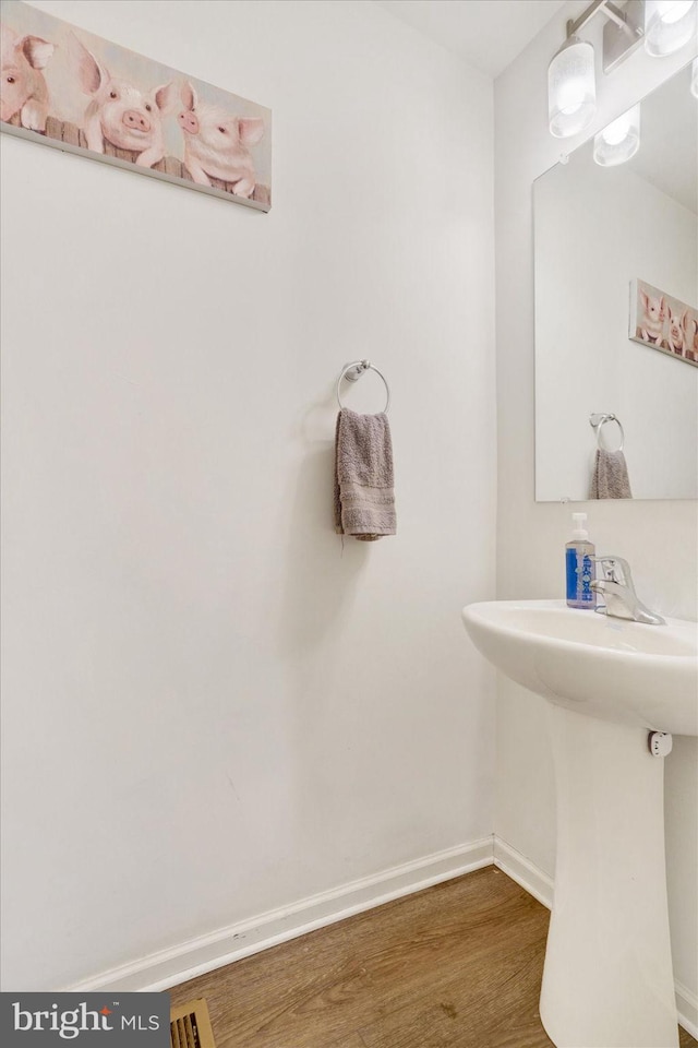
M 664 761 L 643 728 L 547 707 L 557 860 L 543 1026 L 557 1048 L 677 1048 Z

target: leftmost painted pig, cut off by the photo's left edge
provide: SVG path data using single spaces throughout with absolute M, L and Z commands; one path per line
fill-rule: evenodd
M 19 36 L 0 26 L 0 120 L 9 123 L 16 118 L 29 131 L 46 130 L 48 88 L 41 70 L 53 50 L 38 36 Z

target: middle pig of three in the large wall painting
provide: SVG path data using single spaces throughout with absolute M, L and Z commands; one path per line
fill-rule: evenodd
M 92 95 L 85 110 L 87 148 L 104 153 L 104 140 L 119 150 L 139 153 L 140 167 L 153 167 L 165 156 L 163 116 L 174 102 L 174 85 L 164 84 L 142 92 L 115 80 L 76 36 L 71 39 L 73 60 L 82 90 Z

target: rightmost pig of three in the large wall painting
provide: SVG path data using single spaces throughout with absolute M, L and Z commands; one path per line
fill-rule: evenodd
M 252 196 L 256 184 L 250 146 L 264 134 L 261 117 L 234 117 L 220 106 L 200 102 L 190 83 L 182 85 L 184 111 L 178 117 L 184 132 L 184 164 L 195 182 L 212 178 L 234 183 L 236 196 Z

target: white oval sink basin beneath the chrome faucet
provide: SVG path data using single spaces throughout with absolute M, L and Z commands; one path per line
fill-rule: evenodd
M 562 600 L 464 608 L 478 650 L 512 680 L 602 720 L 698 735 L 698 624 L 642 626 Z

